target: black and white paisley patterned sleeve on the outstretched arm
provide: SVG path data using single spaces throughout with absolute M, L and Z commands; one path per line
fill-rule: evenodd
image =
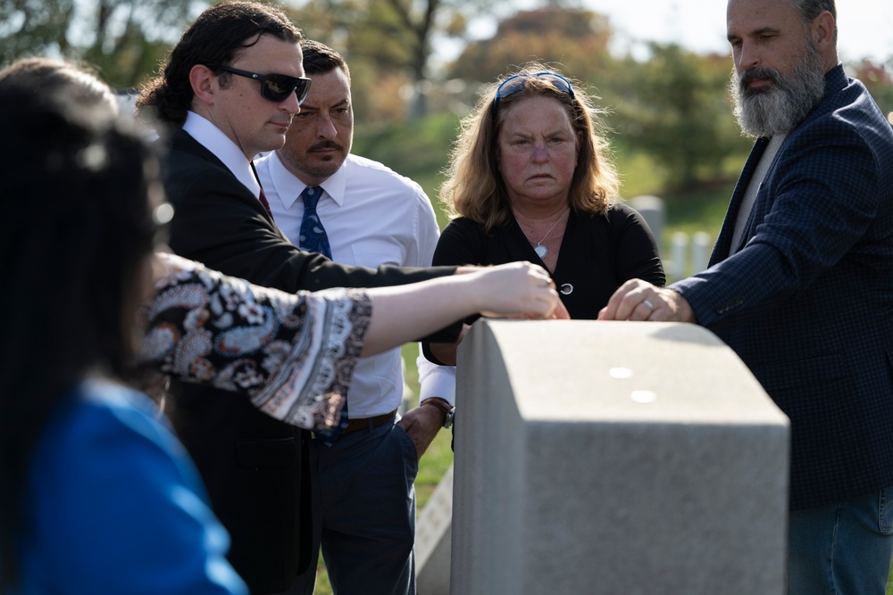
M 338 424 L 371 317 L 363 291 L 291 294 L 161 258 L 171 274 L 142 312 L 138 368 L 246 393 L 294 426 Z

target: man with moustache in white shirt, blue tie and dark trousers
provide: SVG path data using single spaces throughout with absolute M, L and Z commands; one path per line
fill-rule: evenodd
M 286 144 L 255 161 L 273 219 L 294 244 L 336 262 L 429 266 L 439 229 L 428 196 L 409 178 L 350 154 L 350 70 L 326 45 L 305 39 L 301 49 L 313 85 Z M 325 230 L 324 242 L 308 231 L 308 221 Z M 322 549 L 338 592 L 415 593 L 413 483 L 421 454 L 452 408 L 452 385 L 434 386 L 425 367 L 437 367 L 420 358 L 421 404 L 401 418 L 401 364 L 398 349 L 358 362 L 346 428 L 338 436 L 313 434 L 309 442 L 311 553 L 315 559 Z M 309 595 L 315 582 L 312 566 L 288 592 Z

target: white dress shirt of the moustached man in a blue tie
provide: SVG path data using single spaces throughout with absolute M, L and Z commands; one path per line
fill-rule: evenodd
M 263 193 L 270 202 L 273 219 L 299 244 L 305 183 L 296 178 L 276 153 L 255 160 Z M 434 209 L 421 186 L 377 161 L 348 155 L 344 164 L 321 184 L 323 190 L 316 212 L 329 236 L 332 260 L 377 268 L 380 265 L 429 267 L 440 230 Z M 455 389 L 447 377 L 438 388 L 437 368 L 426 359 L 419 362 L 421 399 L 438 396 L 453 401 Z M 443 382 L 441 380 L 441 382 Z M 426 386 L 427 384 L 427 386 Z M 373 417 L 397 409 L 403 401 L 403 367 L 399 349 L 359 359 L 347 392 L 351 418 Z

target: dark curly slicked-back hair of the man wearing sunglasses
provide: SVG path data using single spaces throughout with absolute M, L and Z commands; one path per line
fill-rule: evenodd
M 214 4 L 179 38 L 163 74 L 143 87 L 137 99 L 138 116 L 154 120 L 153 124 L 181 127 L 195 96 L 189 83 L 192 67 L 204 64 L 217 71 L 229 66 L 262 35 L 294 43 L 301 40 L 301 32 L 278 8 L 256 2 Z M 227 86 L 230 77 L 230 73 L 220 71 L 222 87 Z

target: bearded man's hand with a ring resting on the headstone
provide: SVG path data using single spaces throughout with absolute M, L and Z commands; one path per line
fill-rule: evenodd
M 617 288 L 599 320 L 650 320 L 659 322 L 697 322 L 695 311 L 680 293 L 630 279 Z

